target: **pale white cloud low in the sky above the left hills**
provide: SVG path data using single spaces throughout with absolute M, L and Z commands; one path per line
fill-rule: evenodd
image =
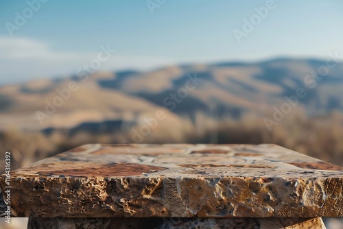
M 99 47 L 100 45 L 106 47 L 107 44 L 99 44 Z M 110 47 L 116 49 L 113 44 L 110 44 Z M 77 69 L 97 58 L 99 51 L 88 53 L 61 51 L 41 40 L 0 36 L 0 84 L 74 75 Z M 121 56 L 120 50 L 117 50 L 99 70 L 145 71 L 169 64 L 177 64 L 177 62 L 171 58 Z

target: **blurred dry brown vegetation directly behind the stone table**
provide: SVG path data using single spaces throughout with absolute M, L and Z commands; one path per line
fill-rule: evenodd
M 274 143 L 343 166 L 343 114 L 340 112 L 311 118 L 294 112 L 274 126 L 271 132 L 265 127 L 263 117 L 257 115 L 221 120 L 201 116 L 197 120 L 189 125 L 189 119 L 185 119 L 184 130 L 155 128 L 140 143 Z M 68 130 L 44 134 L 12 129 L 0 133 L 0 148 L 12 152 L 12 169 L 16 169 L 87 143 L 123 143 L 123 139 L 132 139 L 130 134 L 130 130 L 113 134 L 77 132 L 71 135 Z M 4 161 L 0 163 L 4 165 Z M 1 167 L 1 173 L 3 170 Z

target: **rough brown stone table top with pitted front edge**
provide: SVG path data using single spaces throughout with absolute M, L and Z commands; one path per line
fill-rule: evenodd
M 18 217 L 343 217 L 342 167 L 277 145 L 84 145 L 11 186 Z

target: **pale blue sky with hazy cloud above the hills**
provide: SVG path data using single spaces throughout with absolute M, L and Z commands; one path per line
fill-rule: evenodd
M 281 1 L 237 41 L 268 1 L 0 1 L 0 84 L 75 74 L 101 49 L 117 51 L 100 70 L 149 70 L 185 62 L 325 58 L 343 51 L 342 1 Z M 43 0 L 42 0 L 43 1 Z M 150 11 L 147 3 L 155 4 Z M 16 14 L 16 12 L 18 12 Z M 255 15 L 255 16 L 256 16 Z M 12 36 L 9 23 L 15 25 Z

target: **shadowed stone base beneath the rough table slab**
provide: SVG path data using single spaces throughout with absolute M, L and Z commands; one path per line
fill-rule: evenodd
M 325 228 L 321 218 L 29 218 L 29 229 Z

